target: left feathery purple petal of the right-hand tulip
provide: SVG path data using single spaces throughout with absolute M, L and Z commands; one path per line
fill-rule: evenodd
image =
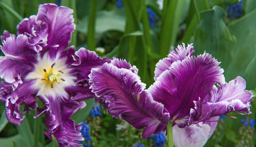
M 116 61 L 117 62 L 117 61 Z M 120 61 L 118 65 L 121 65 Z M 102 68 L 93 68 L 90 89 L 108 103 L 108 112 L 122 117 L 136 129 L 146 128 L 143 138 L 166 129 L 169 114 L 163 113 L 164 106 L 153 100 L 140 77 L 126 68 L 105 63 Z

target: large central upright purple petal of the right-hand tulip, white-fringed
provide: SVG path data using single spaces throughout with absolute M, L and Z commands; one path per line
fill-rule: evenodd
M 172 122 L 185 127 L 193 101 L 206 97 L 216 82 L 225 81 L 219 64 L 209 54 L 186 57 L 172 63 L 148 90 L 154 100 L 164 104 Z

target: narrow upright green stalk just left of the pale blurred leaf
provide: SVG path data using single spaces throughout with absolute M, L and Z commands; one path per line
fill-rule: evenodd
M 97 0 L 90 1 L 90 13 L 88 23 L 88 49 L 95 50 L 95 18 L 96 18 Z

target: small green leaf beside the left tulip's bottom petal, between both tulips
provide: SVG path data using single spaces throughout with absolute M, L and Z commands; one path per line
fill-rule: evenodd
M 92 98 L 91 100 L 85 100 L 85 101 L 86 101 L 86 107 L 77 111 L 76 113 L 73 114 L 73 116 L 70 117 L 70 119 L 73 119 L 74 122 L 76 122 L 76 124 L 86 121 L 87 117 L 90 114 L 90 110 L 95 104 L 94 98 Z

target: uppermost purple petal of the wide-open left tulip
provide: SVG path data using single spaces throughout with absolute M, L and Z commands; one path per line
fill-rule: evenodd
M 36 23 L 44 22 L 48 26 L 48 46 L 58 45 L 60 51 L 66 49 L 71 41 L 74 25 L 73 10 L 56 4 L 42 4 L 39 6 Z

